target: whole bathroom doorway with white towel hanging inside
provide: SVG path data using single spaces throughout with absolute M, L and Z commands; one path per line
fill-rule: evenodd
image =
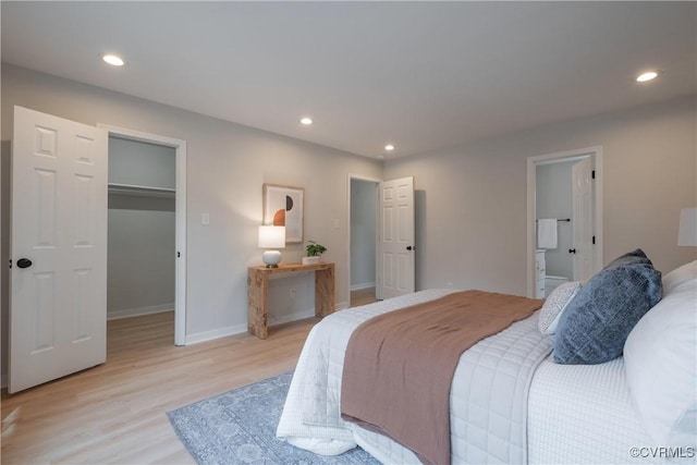
M 589 193 L 576 186 L 588 167 Z M 580 199 L 580 200 L 579 200 Z M 553 246 L 538 248 L 538 220 L 557 220 Z M 542 259 L 543 257 L 543 259 Z M 602 148 L 527 160 L 527 295 L 545 297 L 564 280 L 585 280 L 602 266 Z M 582 276 L 583 274 L 583 276 Z M 547 277 L 547 279 L 546 279 Z M 551 285 L 546 285 L 546 282 Z M 541 287 L 541 289 L 540 289 Z

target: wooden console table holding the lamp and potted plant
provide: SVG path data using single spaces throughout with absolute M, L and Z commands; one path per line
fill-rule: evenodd
M 249 334 L 259 339 L 269 335 L 268 327 L 268 289 L 269 276 L 315 271 L 315 315 L 326 317 L 334 311 L 334 264 L 289 264 L 278 268 L 249 267 L 247 276 L 247 299 Z

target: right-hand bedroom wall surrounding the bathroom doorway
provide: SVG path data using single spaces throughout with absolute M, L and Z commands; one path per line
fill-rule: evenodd
M 680 209 L 697 205 L 695 97 L 389 160 L 415 176 L 417 286 L 526 294 L 526 159 L 603 150 L 603 258 L 641 247 L 668 271 L 697 258 L 677 246 Z

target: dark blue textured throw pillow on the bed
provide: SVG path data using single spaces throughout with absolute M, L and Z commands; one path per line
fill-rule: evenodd
M 634 326 L 662 293 L 661 272 L 644 252 L 617 257 L 568 303 L 557 327 L 554 360 L 595 365 L 619 357 Z

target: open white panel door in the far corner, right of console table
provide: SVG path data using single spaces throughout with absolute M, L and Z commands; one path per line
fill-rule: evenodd
M 414 178 L 381 182 L 378 188 L 376 297 L 414 292 Z

